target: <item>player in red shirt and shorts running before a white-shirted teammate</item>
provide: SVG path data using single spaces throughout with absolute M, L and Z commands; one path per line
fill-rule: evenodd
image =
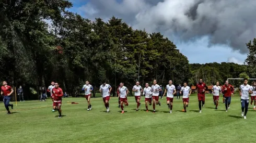
M 63 91 L 59 87 L 59 83 L 54 83 L 55 87 L 52 88 L 52 97 L 53 97 L 53 109 L 59 111 L 59 118 L 61 118 L 61 101 L 63 96 Z

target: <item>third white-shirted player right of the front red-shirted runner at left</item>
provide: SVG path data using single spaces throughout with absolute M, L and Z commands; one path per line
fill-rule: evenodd
M 119 90 L 119 95 L 118 97 L 120 97 L 120 103 L 121 103 L 121 109 L 122 109 L 122 114 L 124 113 L 123 110 L 123 103 L 125 106 L 128 106 L 128 102 L 127 102 L 127 94 L 129 93 L 129 90 L 123 86 L 123 83 L 120 83 L 120 87 L 118 88 Z

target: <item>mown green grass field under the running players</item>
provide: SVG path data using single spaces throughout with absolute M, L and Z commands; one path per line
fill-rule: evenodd
M 237 95 L 228 112 L 224 103 L 214 110 L 210 94 L 202 113 L 195 94 L 187 113 L 181 112 L 182 99 L 173 101 L 172 114 L 166 97 L 159 100 L 162 105 L 152 113 L 153 106 L 149 106 L 150 112 L 144 111 L 144 97 L 139 111 L 134 97 L 128 97 L 129 107 L 121 114 L 117 97 L 110 99 L 109 113 L 102 98 L 91 98 L 91 111 L 87 111 L 85 98 L 63 98 L 61 119 L 58 112 L 51 112 L 51 100 L 18 102 L 10 115 L 2 103 L 0 142 L 255 142 L 256 112 L 249 105 L 247 119 L 241 118 Z M 79 103 L 72 105 L 72 101 Z

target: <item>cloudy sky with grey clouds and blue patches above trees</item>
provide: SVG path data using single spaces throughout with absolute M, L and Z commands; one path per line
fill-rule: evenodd
M 161 32 L 190 63 L 243 64 L 256 37 L 255 0 L 70 0 L 90 20 L 123 19 L 134 29 Z

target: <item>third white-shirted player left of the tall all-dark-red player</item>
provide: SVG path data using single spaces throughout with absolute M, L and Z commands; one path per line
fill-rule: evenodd
M 161 103 L 158 100 L 159 100 L 159 91 L 162 90 L 162 89 L 156 83 L 157 83 L 156 80 L 154 80 L 153 85 L 151 86 L 151 88 L 152 88 L 152 98 L 153 98 L 153 109 L 154 109 L 153 113 L 156 112 L 156 109 L 155 109 L 156 105 L 161 106 Z

